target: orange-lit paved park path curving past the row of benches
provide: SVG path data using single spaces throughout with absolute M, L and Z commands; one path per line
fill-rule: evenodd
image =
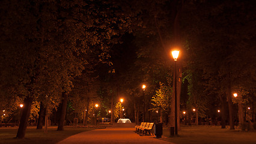
M 68 137 L 67 139 L 58 142 L 58 144 L 79 144 L 79 143 L 93 143 L 93 144 L 108 144 L 108 143 L 149 143 L 149 144 L 173 144 L 158 140 L 154 136 L 139 136 L 135 133 L 135 128 L 130 127 L 111 127 L 106 129 L 98 129 L 92 131 L 85 131 L 79 134 Z

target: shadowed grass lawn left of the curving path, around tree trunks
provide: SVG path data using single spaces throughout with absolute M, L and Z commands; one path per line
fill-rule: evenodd
M 66 139 L 74 134 L 81 133 L 82 131 L 94 130 L 95 128 L 72 128 L 64 127 L 64 131 L 56 131 L 57 127 L 49 127 L 47 134 L 43 130 L 36 130 L 36 127 L 28 127 L 24 139 L 15 139 L 18 128 L 0 128 L 0 143 L 47 143 L 53 144 Z

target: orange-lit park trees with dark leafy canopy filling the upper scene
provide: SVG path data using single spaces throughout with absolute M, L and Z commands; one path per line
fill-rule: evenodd
M 160 109 L 174 125 L 170 47 L 181 50 L 177 101 L 182 109 L 195 107 L 203 117 L 221 106 L 224 127 L 228 105 L 232 129 L 232 93 L 254 104 L 251 1 L 1 3 L 0 107 L 12 111 L 17 109 L 14 103 L 23 101 L 18 138 L 25 136 L 35 101 L 39 113 L 58 109 L 58 130 L 63 130 L 67 107 L 84 113 L 86 125 L 96 101 L 101 113 L 110 107 L 114 112 L 120 95 L 125 95 L 127 114 L 137 124 L 145 103 L 146 121 L 153 115 L 148 109 Z M 145 98 L 142 83 L 147 85 Z

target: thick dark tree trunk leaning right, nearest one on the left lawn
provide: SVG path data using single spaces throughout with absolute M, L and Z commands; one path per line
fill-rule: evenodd
M 30 110 L 31 110 L 31 106 L 32 106 L 32 101 L 33 98 L 31 97 L 26 97 L 24 99 L 24 106 L 23 106 L 23 110 L 22 110 L 22 117 L 20 119 L 20 125 L 19 125 L 19 130 L 17 132 L 17 139 L 22 139 L 25 137 L 25 133 L 26 133 L 26 126 L 28 125 L 28 119 L 29 119 L 29 115 L 30 115 Z

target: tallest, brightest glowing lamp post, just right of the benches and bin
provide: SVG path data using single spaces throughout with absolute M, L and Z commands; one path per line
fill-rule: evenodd
M 177 58 L 178 58 L 178 53 L 180 51 L 174 50 L 171 52 L 172 57 L 174 58 L 174 103 L 175 103 L 175 108 L 174 108 L 174 113 L 175 113 L 175 125 L 174 125 L 174 133 L 177 135 L 178 134 L 178 118 L 177 118 L 177 78 L 176 78 L 176 63 L 177 63 Z

